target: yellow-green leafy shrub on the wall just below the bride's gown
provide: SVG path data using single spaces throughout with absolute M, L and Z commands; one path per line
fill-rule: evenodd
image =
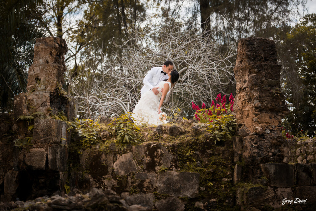
M 112 129 L 112 133 L 116 136 L 116 142 L 121 144 L 121 149 L 126 148 L 127 144 L 134 144 L 140 141 L 140 129 L 134 124 L 135 119 L 131 116 L 131 112 L 122 114 L 118 118 L 112 120 L 108 126 Z

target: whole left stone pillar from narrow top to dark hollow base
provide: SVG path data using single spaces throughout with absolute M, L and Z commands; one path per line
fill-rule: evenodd
M 68 159 L 66 145 L 70 142 L 70 133 L 64 121 L 53 119 L 52 116 L 63 113 L 69 121 L 75 116 L 74 99 L 62 88 L 67 50 L 64 39 L 36 39 L 34 59 L 28 72 L 27 92 L 15 95 L 14 99 L 14 118 L 17 120 L 14 130 L 18 134 L 17 138 L 25 140 L 31 137 L 32 146 L 21 150 L 14 148 L 18 154 L 17 161 L 8 178 L 15 175 L 13 180 L 17 185 L 10 184 L 13 180 L 4 181 L 3 200 L 11 200 L 14 196 L 49 195 L 58 190 L 64 192 Z M 28 117 L 27 121 L 19 116 L 33 118 Z M 26 180 L 30 185 L 20 185 Z

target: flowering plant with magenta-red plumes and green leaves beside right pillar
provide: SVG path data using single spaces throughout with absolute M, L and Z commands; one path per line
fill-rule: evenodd
M 216 97 L 216 104 L 212 100 L 210 108 L 206 109 L 206 105 L 202 104 L 202 109 L 192 102 L 192 109 L 195 110 L 194 118 L 201 122 L 207 123 L 207 131 L 211 132 L 212 137 L 216 141 L 231 138 L 235 133 L 237 123 L 234 116 L 231 114 L 234 106 L 234 97 L 230 93 L 229 103 L 226 104 L 226 95 L 223 97 L 219 93 Z

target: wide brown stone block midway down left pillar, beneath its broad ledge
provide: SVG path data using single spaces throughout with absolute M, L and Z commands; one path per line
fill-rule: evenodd
M 66 123 L 57 119 L 36 119 L 33 140 L 40 143 L 65 143 Z

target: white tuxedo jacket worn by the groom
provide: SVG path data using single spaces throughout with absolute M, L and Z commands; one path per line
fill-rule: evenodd
M 140 90 L 141 95 L 154 87 L 158 87 L 158 84 L 161 81 L 169 78 L 168 74 L 164 75 L 163 73 L 161 73 L 161 70 L 162 67 L 153 67 L 149 70 L 143 80 L 144 86 Z

